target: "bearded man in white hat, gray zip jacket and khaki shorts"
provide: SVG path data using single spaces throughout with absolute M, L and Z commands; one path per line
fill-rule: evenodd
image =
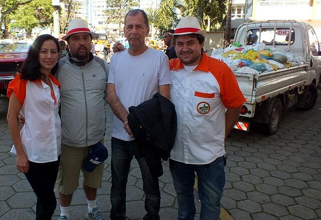
M 60 104 L 62 122 L 61 161 L 57 182 L 61 214 L 58 219 L 69 219 L 73 192 L 83 172 L 83 188 L 87 197 L 87 219 L 103 220 L 96 205 L 97 188 L 101 187 L 103 163 L 92 172 L 86 172 L 82 163 L 89 146 L 103 143 L 106 128 L 105 92 L 108 64 L 91 53 L 90 32 L 85 21 L 70 22 L 62 39 L 69 45 L 68 56 L 59 60 L 56 77 L 61 83 Z

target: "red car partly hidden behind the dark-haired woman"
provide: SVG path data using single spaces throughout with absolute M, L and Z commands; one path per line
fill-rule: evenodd
M 0 43 L 0 95 L 7 95 L 9 82 L 26 59 L 29 47 L 27 43 Z

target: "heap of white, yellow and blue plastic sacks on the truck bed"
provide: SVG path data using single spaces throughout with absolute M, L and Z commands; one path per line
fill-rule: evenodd
M 280 48 L 267 48 L 264 43 L 245 47 L 233 44 L 214 50 L 211 57 L 223 61 L 237 73 L 260 74 L 304 64 L 302 57 L 294 57 Z

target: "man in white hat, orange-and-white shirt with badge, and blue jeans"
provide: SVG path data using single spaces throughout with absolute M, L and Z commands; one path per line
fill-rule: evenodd
M 195 217 L 195 172 L 200 219 L 219 219 L 225 184 L 224 139 L 245 101 L 230 68 L 203 52 L 205 33 L 197 18 L 183 17 L 171 34 L 178 56 L 170 61 L 171 101 L 176 107 L 178 128 L 170 170 L 179 220 Z

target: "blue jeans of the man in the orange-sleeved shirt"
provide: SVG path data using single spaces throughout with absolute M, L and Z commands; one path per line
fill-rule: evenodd
M 218 220 L 221 198 L 225 185 L 223 157 L 210 164 L 186 164 L 170 160 L 170 170 L 177 193 L 179 220 L 194 220 L 196 208 L 194 200 L 195 172 L 198 177 L 198 193 L 201 200 L 200 220 Z

